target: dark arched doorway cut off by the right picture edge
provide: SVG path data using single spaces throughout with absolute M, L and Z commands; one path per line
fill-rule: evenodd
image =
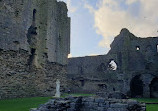
M 154 78 L 150 84 L 150 97 L 158 98 L 158 78 Z

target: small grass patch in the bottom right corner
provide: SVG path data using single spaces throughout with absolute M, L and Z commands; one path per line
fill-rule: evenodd
M 152 98 L 139 98 L 136 100 L 144 103 L 158 103 L 158 99 L 152 99 Z M 158 104 L 146 104 L 146 109 L 147 111 L 158 111 Z

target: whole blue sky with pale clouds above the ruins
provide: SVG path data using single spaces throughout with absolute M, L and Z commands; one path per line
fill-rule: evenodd
M 58 0 L 71 17 L 71 56 L 106 54 L 122 28 L 158 36 L 158 0 Z

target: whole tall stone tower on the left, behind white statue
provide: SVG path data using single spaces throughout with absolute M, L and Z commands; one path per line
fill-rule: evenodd
M 0 99 L 53 96 L 66 87 L 67 6 L 56 0 L 0 0 Z

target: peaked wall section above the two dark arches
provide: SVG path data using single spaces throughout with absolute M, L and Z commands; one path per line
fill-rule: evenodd
M 158 38 L 140 38 L 122 29 L 111 44 L 108 55 L 117 55 L 122 71 L 156 71 L 158 68 Z

